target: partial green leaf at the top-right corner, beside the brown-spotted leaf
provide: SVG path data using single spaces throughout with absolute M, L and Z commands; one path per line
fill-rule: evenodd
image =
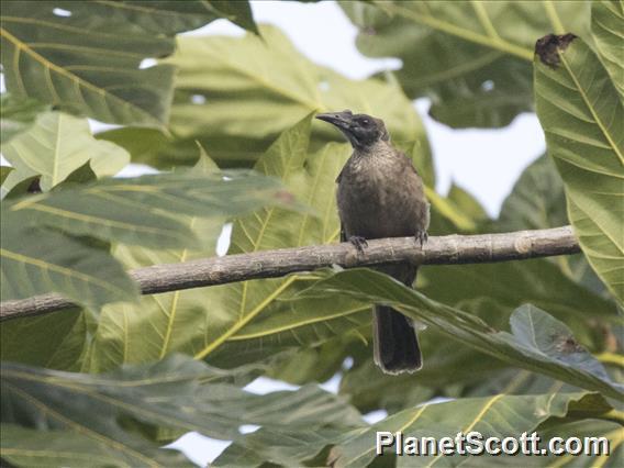
M 616 0 L 600 0 L 591 2 L 591 32 L 595 52 L 600 57 L 620 99 L 624 98 L 624 62 L 622 60 L 622 41 L 624 33 L 624 5 Z

